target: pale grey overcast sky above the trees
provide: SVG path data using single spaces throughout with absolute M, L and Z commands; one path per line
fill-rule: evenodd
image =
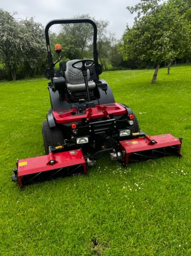
M 34 17 L 36 22 L 44 26 L 53 19 L 89 13 L 96 20 L 110 21 L 108 31 L 115 33 L 120 39 L 126 24 L 133 25 L 134 15 L 126 7 L 138 2 L 139 0 L 0 0 L 0 8 L 8 12 L 16 11 L 16 18 Z

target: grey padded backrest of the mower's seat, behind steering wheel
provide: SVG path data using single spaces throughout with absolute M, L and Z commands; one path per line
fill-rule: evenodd
M 66 62 L 65 78 L 69 84 L 84 83 L 84 77 L 83 77 L 82 71 L 77 68 L 73 68 L 72 66 L 72 64 L 78 60 L 79 59 L 73 59 Z M 80 64 L 81 63 L 79 63 L 79 66 Z M 87 69 L 87 81 L 89 81 L 89 78 L 90 78 L 90 72 L 89 72 L 89 69 Z

